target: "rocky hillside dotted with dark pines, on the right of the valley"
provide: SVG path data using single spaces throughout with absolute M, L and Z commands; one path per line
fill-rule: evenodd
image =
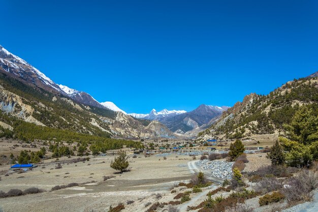
M 290 123 L 301 105 L 308 105 L 318 115 L 318 72 L 290 81 L 269 95 L 250 94 L 224 112 L 207 130 L 198 134 L 207 138 L 235 139 L 256 134 L 279 134 Z

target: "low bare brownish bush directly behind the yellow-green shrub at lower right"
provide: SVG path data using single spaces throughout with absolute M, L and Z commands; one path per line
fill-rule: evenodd
M 282 183 L 276 177 L 265 177 L 260 180 L 253 189 L 261 194 L 266 194 L 268 192 L 277 191 L 282 188 Z

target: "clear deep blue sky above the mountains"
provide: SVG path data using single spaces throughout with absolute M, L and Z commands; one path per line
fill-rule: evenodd
M 0 0 L 0 44 L 127 112 L 228 105 L 318 71 L 318 1 Z

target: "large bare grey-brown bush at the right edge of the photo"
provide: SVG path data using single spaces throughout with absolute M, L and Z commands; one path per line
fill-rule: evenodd
M 287 200 L 294 204 L 298 201 L 309 201 L 312 199 L 312 190 L 318 185 L 317 173 L 309 170 L 301 170 L 297 177 L 288 180 L 287 185 L 281 190 Z

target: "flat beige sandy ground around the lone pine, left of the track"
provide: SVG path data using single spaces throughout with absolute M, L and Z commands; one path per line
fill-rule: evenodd
M 56 185 L 91 180 L 99 183 L 3 198 L 0 199 L 0 205 L 4 211 L 108 211 L 110 205 L 116 206 L 119 202 L 138 201 L 138 198 L 145 197 L 149 199 L 155 193 L 161 193 L 163 196 L 170 194 L 169 188 L 174 183 L 188 180 L 192 176 L 187 168 L 187 162 L 192 160 L 192 157 L 188 156 L 172 155 L 167 160 L 155 156 L 130 158 L 131 171 L 123 174 L 114 174 L 114 170 L 109 166 L 113 159 L 113 156 L 96 157 L 85 163 L 62 164 L 61 169 L 54 169 L 56 162 L 54 164 L 52 161 L 51 164 L 45 165 L 45 168 L 39 166 L 26 173 L 2 175 L 0 190 L 5 192 L 13 188 L 24 190 L 30 187 L 49 191 Z M 60 159 L 59 162 L 63 160 L 70 159 Z M 9 166 L 1 166 L 1 169 L 8 170 Z M 105 175 L 115 177 L 103 181 Z M 136 204 L 136 207 L 140 209 L 140 205 Z M 130 207 L 131 209 L 124 211 L 139 211 L 133 204 Z

